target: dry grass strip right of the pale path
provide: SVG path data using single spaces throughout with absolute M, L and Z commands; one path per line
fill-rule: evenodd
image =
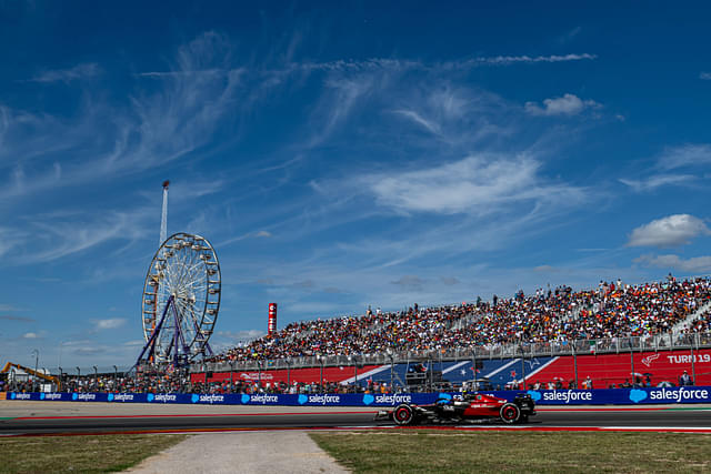
M 311 437 L 356 473 L 711 471 L 708 434 L 388 430 Z

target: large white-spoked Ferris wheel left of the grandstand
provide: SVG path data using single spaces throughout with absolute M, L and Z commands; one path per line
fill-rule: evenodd
M 146 345 L 139 362 L 184 365 L 206 353 L 220 310 L 220 263 L 200 235 L 179 232 L 153 256 L 143 284 Z

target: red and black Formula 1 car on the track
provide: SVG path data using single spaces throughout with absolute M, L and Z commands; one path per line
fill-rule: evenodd
M 473 423 L 481 421 L 501 421 L 505 424 L 527 423 L 535 415 L 535 402 L 529 394 L 518 394 L 508 402 L 483 393 L 454 395 L 452 399 L 439 399 L 431 405 L 401 403 L 394 410 L 381 410 L 375 421 L 392 421 L 398 425 L 418 423 Z

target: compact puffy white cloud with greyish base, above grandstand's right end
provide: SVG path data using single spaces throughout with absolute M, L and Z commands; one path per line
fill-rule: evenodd
M 701 219 L 689 214 L 674 214 L 634 229 L 628 246 L 678 246 L 690 243 L 698 235 L 709 234 L 711 231 Z

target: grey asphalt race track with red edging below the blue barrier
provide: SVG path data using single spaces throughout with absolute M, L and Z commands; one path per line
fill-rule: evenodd
M 373 422 L 373 409 L 261 406 L 162 406 L 69 402 L 0 404 L 0 436 L 84 433 L 160 433 L 248 430 L 370 428 L 393 426 Z M 51 403 L 51 402 L 50 402 Z M 13 405 L 14 404 L 14 405 Z M 515 430 L 534 431 L 690 431 L 711 433 L 711 407 L 671 405 L 644 409 L 538 407 L 539 414 Z M 472 428 L 508 428 L 500 423 L 467 424 Z

